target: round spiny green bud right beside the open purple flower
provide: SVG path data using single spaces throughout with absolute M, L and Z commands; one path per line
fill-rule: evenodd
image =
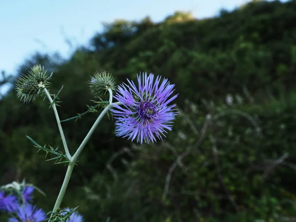
M 90 93 L 102 101 L 109 100 L 108 89 L 114 91 L 116 89 L 116 83 L 113 76 L 106 71 L 96 72 L 89 81 Z

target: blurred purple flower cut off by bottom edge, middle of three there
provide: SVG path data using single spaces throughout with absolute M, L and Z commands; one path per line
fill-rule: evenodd
M 8 222 L 43 222 L 46 219 L 45 212 L 31 204 L 19 206 L 15 213 Z

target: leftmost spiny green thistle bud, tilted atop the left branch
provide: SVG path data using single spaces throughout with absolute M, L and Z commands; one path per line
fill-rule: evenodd
M 29 74 L 20 76 L 16 79 L 17 96 L 24 103 L 34 101 L 40 94 L 43 88 L 49 85 L 48 80 L 52 74 L 48 74 L 47 70 L 40 65 L 35 65 L 29 71 Z

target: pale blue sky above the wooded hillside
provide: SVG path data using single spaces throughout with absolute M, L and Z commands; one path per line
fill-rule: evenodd
M 2 0 L 0 1 L 0 70 L 14 74 L 34 52 L 71 53 L 86 45 L 102 22 L 140 20 L 155 22 L 176 10 L 191 11 L 197 18 L 211 17 L 220 8 L 233 9 L 248 0 Z

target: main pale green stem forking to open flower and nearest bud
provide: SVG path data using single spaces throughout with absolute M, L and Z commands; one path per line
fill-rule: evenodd
M 110 93 L 110 99 L 109 99 L 109 105 L 101 112 L 101 114 L 99 115 L 99 117 L 97 118 L 97 120 L 95 121 L 95 123 L 93 124 L 93 126 L 91 127 L 91 129 L 89 130 L 89 132 L 87 133 L 86 137 L 84 138 L 84 140 L 82 141 L 82 143 L 80 144 L 79 148 L 76 150 L 76 152 L 74 153 L 74 155 L 71 157 L 70 159 L 70 163 L 68 165 L 68 169 L 67 169 L 67 173 L 63 182 L 63 185 L 61 187 L 60 193 L 58 195 L 58 198 L 56 200 L 56 203 L 54 205 L 53 208 L 53 212 L 57 211 L 62 203 L 62 200 L 64 198 L 67 186 L 69 184 L 70 178 L 71 178 L 71 174 L 75 165 L 75 162 L 78 158 L 78 156 L 80 155 L 80 153 L 82 152 L 83 148 L 85 147 L 86 143 L 89 141 L 91 135 L 93 134 L 93 132 L 95 131 L 95 129 L 97 128 L 98 124 L 100 123 L 100 121 L 102 120 L 102 118 L 104 117 L 104 115 L 107 113 L 107 111 L 114 105 L 120 105 L 120 102 L 117 103 L 112 103 L 112 91 L 109 90 Z

